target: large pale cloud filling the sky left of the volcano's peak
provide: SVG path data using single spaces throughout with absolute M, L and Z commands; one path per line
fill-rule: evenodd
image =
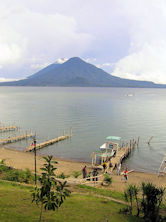
M 19 1 L 8 3 L 0 6 L 1 66 L 29 63 L 37 69 L 58 57 L 84 53 L 93 39 L 91 34 L 78 31 L 71 16 L 39 12 Z

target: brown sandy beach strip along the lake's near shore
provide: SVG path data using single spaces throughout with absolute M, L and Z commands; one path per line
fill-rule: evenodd
M 34 154 L 33 153 L 24 153 L 17 150 L 11 150 L 5 147 L 0 148 L 0 159 L 4 159 L 5 163 L 8 166 L 14 167 L 16 169 L 26 169 L 29 168 L 34 172 Z M 82 168 L 86 165 L 88 171 L 91 171 L 91 164 L 85 162 L 76 162 L 72 160 L 54 158 L 57 164 L 56 174 L 64 173 L 65 175 L 72 175 L 74 171 L 79 171 L 81 173 Z M 44 160 L 42 156 L 37 155 L 37 172 L 40 172 L 40 168 Z M 81 176 L 80 176 L 81 177 Z M 113 183 L 111 189 L 116 191 L 124 191 L 128 184 L 137 184 L 140 185 L 144 182 L 152 182 L 157 186 L 166 187 L 166 175 L 158 177 L 157 174 L 151 173 L 142 173 L 142 172 L 131 172 L 128 175 L 128 182 L 125 183 L 123 176 L 117 176 L 116 171 L 111 175 L 113 178 Z

